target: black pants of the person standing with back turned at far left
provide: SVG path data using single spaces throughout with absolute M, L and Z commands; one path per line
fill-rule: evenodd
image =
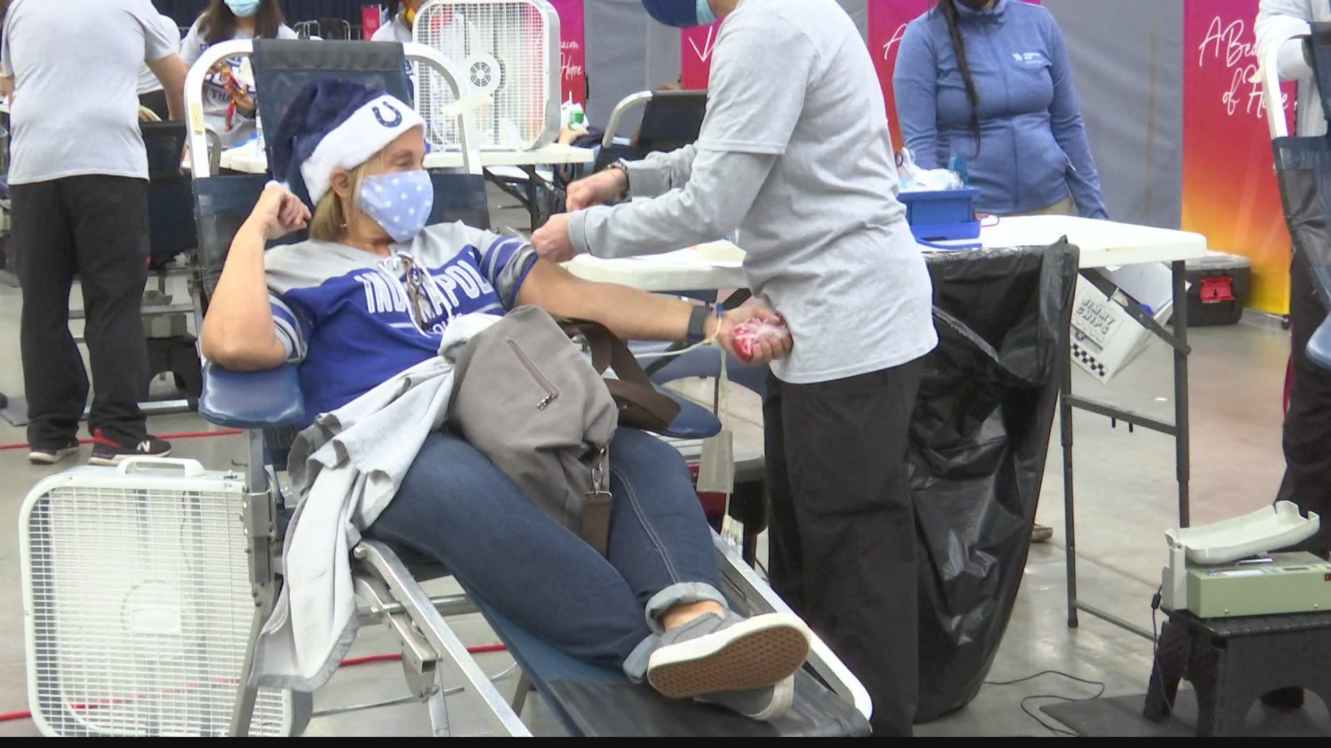
M 79 433 L 88 374 L 69 334 L 69 290 L 79 276 L 92 363 L 89 430 L 122 442 L 146 434 L 142 298 L 148 281 L 148 181 L 84 176 L 12 185 L 23 286 L 23 379 L 28 442 L 63 446 Z

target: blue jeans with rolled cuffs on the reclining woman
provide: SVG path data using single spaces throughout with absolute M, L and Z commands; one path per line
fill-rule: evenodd
M 725 604 L 711 528 L 680 454 L 636 429 L 610 446 L 607 558 L 528 502 L 475 447 L 431 434 L 369 535 L 438 559 L 560 650 L 624 667 L 673 606 Z M 642 664 L 626 668 L 640 677 Z M 638 671 L 638 672 L 635 672 Z

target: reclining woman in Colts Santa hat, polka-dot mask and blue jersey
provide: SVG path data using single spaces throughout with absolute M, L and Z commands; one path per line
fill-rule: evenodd
M 297 96 L 278 137 L 278 176 L 290 165 L 287 178 L 303 180 L 313 217 L 284 186 L 264 192 L 232 244 L 202 346 L 232 370 L 299 363 L 313 414 L 437 355 L 461 314 L 532 305 L 602 322 L 624 338 L 685 338 L 695 310 L 688 302 L 578 280 L 538 260 L 519 237 L 462 224 L 425 228 L 433 188 L 422 169 L 421 117 L 386 93 L 315 81 Z M 264 253 L 268 241 L 306 225 L 309 241 Z M 427 286 L 429 310 L 413 315 L 394 305 L 419 297 L 407 283 Z M 709 314 L 707 334 L 719 333 L 728 347 L 733 326 L 753 317 L 775 314 L 761 306 Z M 763 343 L 759 357 L 787 353 Z M 793 615 L 744 619 L 728 610 L 711 530 L 669 445 L 620 427 L 611 465 L 608 558 L 449 433 L 426 441 L 370 535 L 438 559 L 551 644 L 622 667 L 668 697 L 759 720 L 785 713 L 793 673 L 808 656 L 808 628 Z

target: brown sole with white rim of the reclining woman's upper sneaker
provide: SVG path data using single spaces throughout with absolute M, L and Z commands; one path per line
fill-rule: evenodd
M 811 642 L 809 628 L 795 616 L 752 618 L 652 652 L 647 681 L 668 699 L 768 688 L 800 669 Z

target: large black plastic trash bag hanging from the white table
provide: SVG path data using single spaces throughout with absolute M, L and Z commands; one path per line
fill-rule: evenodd
M 1078 250 L 929 256 L 938 347 L 910 422 L 920 538 L 916 721 L 966 705 L 1021 586 L 1067 366 Z

